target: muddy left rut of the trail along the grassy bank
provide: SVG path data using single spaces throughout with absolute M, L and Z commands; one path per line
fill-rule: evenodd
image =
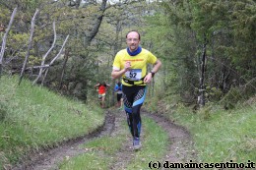
M 80 148 L 81 144 L 112 134 L 114 124 L 114 115 L 106 111 L 104 124 L 96 129 L 95 132 L 85 137 L 60 143 L 52 149 L 36 151 L 36 153 L 32 153 L 32 155 L 30 155 L 29 158 L 26 158 L 22 164 L 12 168 L 12 170 L 58 169 L 59 162 L 87 151 L 86 149 Z

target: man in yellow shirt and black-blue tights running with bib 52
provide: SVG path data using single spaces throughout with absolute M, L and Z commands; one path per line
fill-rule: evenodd
M 150 51 L 140 46 L 141 36 L 136 30 L 126 34 L 127 48 L 120 50 L 113 62 L 111 76 L 113 79 L 122 77 L 124 109 L 127 123 L 133 136 L 133 147 L 141 147 L 141 115 L 140 109 L 146 96 L 146 85 L 159 71 L 161 62 Z M 154 65 L 147 73 L 147 65 Z

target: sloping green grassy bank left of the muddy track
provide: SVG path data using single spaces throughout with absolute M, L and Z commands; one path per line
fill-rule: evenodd
M 0 167 L 42 147 L 84 136 L 103 124 L 104 115 L 94 105 L 32 86 L 18 77 L 0 82 Z

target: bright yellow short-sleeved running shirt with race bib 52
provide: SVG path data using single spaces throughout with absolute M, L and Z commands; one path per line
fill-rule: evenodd
M 135 56 L 130 56 L 127 49 L 123 49 L 119 51 L 114 58 L 113 70 L 120 71 L 124 69 L 124 64 L 127 61 L 131 62 L 131 70 L 127 71 L 122 78 L 133 81 L 134 85 L 145 85 L 142 84 L 143 81 L 141 79 L 147 74 L 147 64 L 155 64 L 157 62 L 157 57 L 144 48 L 142 48 L 142 51 Z M 122 80 L 122 84 L 131 86 L 130 84 L 125 83 L 124 80 Z

